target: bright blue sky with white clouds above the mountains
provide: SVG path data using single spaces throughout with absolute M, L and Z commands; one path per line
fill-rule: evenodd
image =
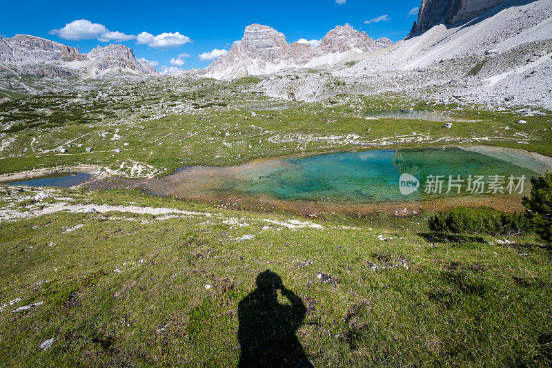
M 283 32 L 288 42 L 322 39 L 344 23 L 373 39 L 397 41 L 408 34 L 418 6 L 420 0 L 20 0 L 3 3 L 0 37 L 24 33 L 76 46 L 81 52 L 123 43 L 137 58 L 157 62 L 153 64 L 159 71 L 204 68 L 241 39 L 251 23 Z

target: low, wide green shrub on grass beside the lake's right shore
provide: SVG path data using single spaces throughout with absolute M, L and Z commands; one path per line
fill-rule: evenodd
M 531 223 L 523 213 L 505 213 L 489 207 L 440 211 L 429 219 L 428 225 L 431 231 L 440 233 L 518 235 L 531 230 Z

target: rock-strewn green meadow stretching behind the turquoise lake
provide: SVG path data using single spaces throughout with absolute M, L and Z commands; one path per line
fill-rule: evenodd
M 249 79 L 247 83 L 255 82 Z M 4 132 L 15 139 L 0 155 L 0 174 L 91 164 L 108 167 L 115 175 L 130 175 L 138 163 L 147 167 L 142 176 L 165 175 L 181 166 L 232 165 L 259 157 L 442 144 L 508 146 L 552 155 L 549 116 L 520 117 L 513 110 L 491 112 L 477 106 L 455 110 L 455 104 L 428 106 L 386 94 L 337 95 L 323 103 L 259 111 L 251 117 L 250 106 L 281 101 L 252 93 L 244 83 L 201 79 L 181 93 L 148 84 L 131 86 L 130 92 L 113 88 L 108 97 L 92 91 L 80 97 L 41 95 L 0 104 L 3 122 L 12 124 Z M 453 128 L 444 129 L 442 122 L 359 117 L 364 110 L 408 104 L 454 111 L 455 117 L 477 122 L 453 122 Z M 517 124 L 519 119 L 527 124 Z M 121 138 L 112 139 L 115 133 Z M 344 139 L 347 135 L 358 136 L 357 143 Z M 331 136 L 342 138 L 305 141 Z M 59 153 L 60 146 L 67 153 Z M 121 153 L 115 153 L 116 148 Z

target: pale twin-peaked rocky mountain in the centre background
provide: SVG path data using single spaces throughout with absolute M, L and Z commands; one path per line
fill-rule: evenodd
M 390 39 L 380 43 L 346 24 L 330 30 L 319 46 L 309 43 L 288 43 L 286 36 L 261 24 L 247 26 L 244 37 L 236 41 L 230 52 L 204 70 L 206 77 L 232 79 L 247 75 L 262 75 L 290 67 L 315 67 L 335 64 L 348 52 L 364 52 L 393 44 Z

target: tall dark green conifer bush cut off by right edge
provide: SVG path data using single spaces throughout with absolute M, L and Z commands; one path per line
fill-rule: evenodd
M 525 214 L 539 238 L 552 243 L 552 173 L 531 177 L 531 196 L 523 197 Z

